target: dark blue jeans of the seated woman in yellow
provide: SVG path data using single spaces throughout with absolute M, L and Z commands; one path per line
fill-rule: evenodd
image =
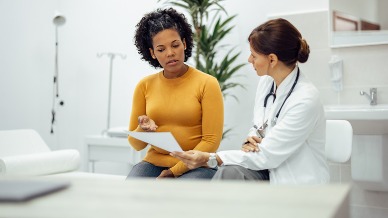
M 129 172 L 126 179 L 133 179 L 139 177 L 158 177 L 163 170 L 168 170 L 169 167 L 158 167 L 153 164 L 150 164 L 146 161 L 141 161 L 140 163 L 133 166 L 131 172 Z M 177 179 L 211 179 L 213 178 L 215 172 L 217 172 L 216 168 L 196 168 L 194 170 L 190 170 Z

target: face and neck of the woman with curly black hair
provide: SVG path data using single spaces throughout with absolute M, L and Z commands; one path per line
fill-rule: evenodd
M 151 55 L 156 57 L 164 69 L 165 77 L 180 77 L 186 73 L 185 39 L 181 40 L 178 31 L 165 29 L 152 38 Z

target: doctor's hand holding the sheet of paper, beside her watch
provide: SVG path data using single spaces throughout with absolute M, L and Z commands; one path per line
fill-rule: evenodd
M 209 160 L 210 154 L 202 151 L 186 151 L 185 153 L 174 151 L 170 153 L 171 156 L 182 160 L 186 166 L 193 170 L 198 167 L 207 167 L 206 162 Z

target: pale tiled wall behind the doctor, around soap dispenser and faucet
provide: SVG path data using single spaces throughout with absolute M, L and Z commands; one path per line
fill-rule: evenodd
M 277 16 L 288 19 L 310 45 L 307 63 L 300 64 L 320 90 L 324 105 L 368 104 L 361 90 L 378 88 L 378 104 L 388 104 L 388 45 L 334 48 L 329 46 L 328 11 Z M 270 17 L 276 18 L 276 17 Z M 343 91 L 334 92 L 328 61 L 332 55 L 343 60 Z M 329 163 L 331 183 L 352 183 L 350 161 Z M 388 192 L 366 191 L 352 183 L 351 218 L 387 218 Z

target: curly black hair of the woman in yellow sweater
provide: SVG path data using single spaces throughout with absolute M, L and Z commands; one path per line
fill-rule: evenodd
M 144 15 L 140 22 L 136 25 L 135 45 L 138 53 L 141 54 L 141 59 L 148 61 L 151 66 L 161 68 L 159 61 L 153 59 L 149 48 L 153 48 L 152 39 L 159 32 L 165 29 L 175 29 L 181 36 L 181 40 L 186 41 L 185 62 L 192 56 L 193 31 L 185 18 L 185 15 L 178 13 L 174 8 L 157 9 Z

